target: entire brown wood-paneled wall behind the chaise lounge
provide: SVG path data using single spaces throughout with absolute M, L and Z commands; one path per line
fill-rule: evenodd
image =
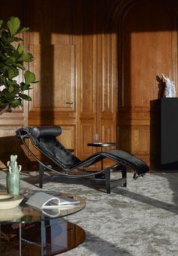
M 2 18 L 30 27 L 24 43 L 39 83 L 29 105 L 0 116 L 1 155 L 10 153 L 4 137 L 19 126 L 60 125 L 61 141 L 79 158 L 96 150 L 87 142 L 99 133 L 154 164 L 156 76 L 170 76 L 177 89 L 176 1 L 9 2 Z

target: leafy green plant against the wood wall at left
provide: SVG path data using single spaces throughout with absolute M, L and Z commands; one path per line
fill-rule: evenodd
M 32 61 L 33 56 L 25 52 L 23 39 L 17 36 L 29 27 L 20 27 L 18 17 L 10 17 L 5 28 L 3 23 L 0 20 L 0 108 L 17 108 L 22 106 L 23 100 L 32 100 L 26 91 L 32 89 L 32 83 L 36 83 L 35 74 L 24 67 L 24 63 Z M 23 76 L 18 83 L 20 70 L 23 70 Z

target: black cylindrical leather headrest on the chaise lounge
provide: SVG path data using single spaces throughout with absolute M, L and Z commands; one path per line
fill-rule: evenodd
M 59 136 L 62 133 L 62 129 L 60 126 L 32 127 L 29 133 L 37 139 L 44 136 Z

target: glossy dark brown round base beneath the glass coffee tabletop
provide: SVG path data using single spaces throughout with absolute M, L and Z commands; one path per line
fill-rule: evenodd
M 84 229 L 63 218 L 20 224 L 16 231 L 16 236 L 12 239 L 3 238 L 2 241 L 1 238 L 1 256 L 57 255 L 77 247 L 85 239 Z M 9 233 L 5 233 L 5 237 L 8 238 Z

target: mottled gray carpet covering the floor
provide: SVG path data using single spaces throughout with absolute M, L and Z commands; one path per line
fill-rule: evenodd
M 35 174 L 21 174 L 23 191 L 41 190 Z M 85 230 L 86 239 L 61 255 L 178 255 L 178 172 L 148 173 L 136 181 L 132 176 L 128 173 L 127 188 L 112 189 L 110 195 L 82 185 L 44 184 L 45 192 L 70 192 L 87 202 L 67 217 Z M 0 189 L 5 189 L 5 173 L 0 177 Z

